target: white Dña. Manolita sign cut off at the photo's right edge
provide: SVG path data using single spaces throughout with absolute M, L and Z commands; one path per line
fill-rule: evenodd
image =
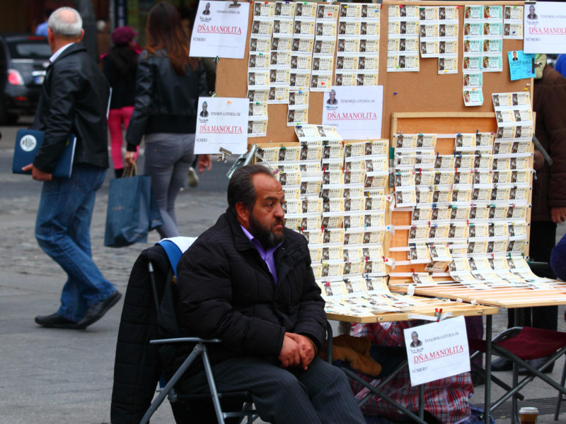
M 525 53 L 566 53 L 566 4 L 526 4 L 524 19 Z

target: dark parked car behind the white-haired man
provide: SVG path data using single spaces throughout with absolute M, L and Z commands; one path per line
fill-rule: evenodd
M 35 114 L 51 49 L 46 37 L 0 34 L 0 122 Z

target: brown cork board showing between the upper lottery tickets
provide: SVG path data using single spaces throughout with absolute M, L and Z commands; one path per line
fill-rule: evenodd
M 466 1 L 392 1 L 384 0 L 380 21 L 379 84 L 383 88 L 383 120 L 381 139 L 388 138 L 391 130 L 391 114 L 394 112 L 492 112 L 492 93 L 530 90 L 532 80 L 509 80 L 507 52 L 523 49 L 523 40 L 503 40 L 503 71 L 483 73 L 483 97 L 481 106 L 466 107 L 463 102 L 463 6 Z M 420 59 L 419 72 L 387 72 L 388 7 L 411 4 L 418 6 L 461 6 L 458 9 L 458 73 L 439 75 L 438 59 Z M 524 6 L 524 1 L 489 1 L 492 5 Z M 245 98 L 248 89 L 247 73 L 250 30 L 253 22 L 250 7 L 246 53 L 243 59 L 220 59 L 216 71 L 216 95 L 219 97 Z M 209 60 L 209 59 L 206 59 Z M 287 126 L 287 105 L 268 105 L 267 136 L 253 137 L 248 143 L 298 142 L 293 126 Z M 323 93 L 311 92 L 308 107 L 308 124 L 322 124 Z M 444 132 L 444 131 L 440 131 Z

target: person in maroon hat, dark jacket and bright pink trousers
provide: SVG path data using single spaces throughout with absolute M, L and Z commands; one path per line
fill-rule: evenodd
M 124 172 L 122 127 L 127 129 L 129 118 L 134 112 L 139 54 L 135 49 L 136 35 L 137 33 L 129 26 L 116 28 L 112 33 L 114 46 L 103 59 L 104 75 L 112 88 L 108 129 L 110 130 L 110 150 L 116 177 L 120 177 Z M 136 149 L 136 158 L 138 150 L 139 146 Z

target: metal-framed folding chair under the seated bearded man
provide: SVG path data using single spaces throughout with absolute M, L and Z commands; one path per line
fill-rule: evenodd
M 168 331 L 171 333 L 171 338 L 162 338 L 157 340 L 150 341 L 150 344 L 157 345 L 161 347 L 169 346 L 178 343 L 197 343 L 196 346 L 192 349 L 192 353 L 183 361 L 183 364 L 180 365 L 178 370 L 173 374 L 173 376 L 168 380 L 156 396 L 151 405 L 149 406 L 148 410 L 146 411 L 144 417 L 141 419 L 141 424 L 149 423 L 149 419 L 157 410 L 157 408 L 163 403 L 165 398 L 167 397 L 168 400 L 172 405 L 178 402 L 190 402 L 194 404 L 195 402 L 202 403 L 203 401 L 212 401 L 214 406 L 214 412 L 216 413 L 216 419 L 218 420 L 219 424 L 224 424 L 224 420 L 226 418 L 240 418 L 238 423 L 243 420 L 243 418 L 248 418 L 248 423 L 253 423 L 255 418 L 258 418 L 258 413 L 253 408 L 253 399 L 251 394 L 248 391 L 232 391 L 232 392 L 222 392 L 219 393 L 216 390 L 216 384 L 214 383 L 214 376 L 212 375 L 212 366 L 209 361 L 209 356 L 207 353 L 207 344 L 209 343 L 220 343 L 219 339 L 214 340 L 204 340 L 202 338 L 197 337 L 180 337 L 180 329 L 178 326 L 176 328 L 174 325 L 171 325 L 171 317 L 176 317 L 174 311 L 174 297 L 175 297 L 175 288 L 174 285 L 176 283 L 176 276 L 174 275 L 174 271 L 176 270 L 176 264 L 178 259 L 183 252 L 180 252 L 178 247 L 171 244 L 168 245 L 162 242 L 159 243 L 161 247 L 165 250 L 163 254 L 168 254 L 168 258 L 171 261 L 171 267 L 168 269 L 166 274 L 166 278 L 161 286 L 163 289 L 161 290 L 162 293 L 159 295 L 158 293 L 158 283 L 156 282 L 156 273 L 154 271 L 154 263 L 150 260 L 148 261 L 148 272 L 149 272 L 149 279 L 151 281 L 151 292 L 153 293 L 154 298 L 154 306 L 156 308 L 158 314 L 158 324 L 159 324 L 159 317 L 165 314 L 169 322 L 168 324 L 164 325 L 168 327 Z M 156 247 L 158 248 L 158 247 Z M 176 249 L 176 250 L 175 250 Z M 163 275 L 163 273 L 160 273 Z M 175 319 L 176 320 L 176 319 Z M 178 324 L 178 323 L 177 323 Z M 187 371 L 188 367 L 197 359 L 202 358 L 202 362 L 204 365 L 204 371 L 207 376 L 207 382 L 209 384 L 209 391 L 205 393 L 199 394 L 183 394 L 179 393 L 175 390 L 175 385 L 178 384 L 180 379 L 183 377 L 185 372 Z M 243 404 L 243 408 L 241 411 L 234 411 L 234 412 L 224 412 L 222 411 L 221 407 L 221 400 L 225 401 L 234 401 L 239 404 Z

